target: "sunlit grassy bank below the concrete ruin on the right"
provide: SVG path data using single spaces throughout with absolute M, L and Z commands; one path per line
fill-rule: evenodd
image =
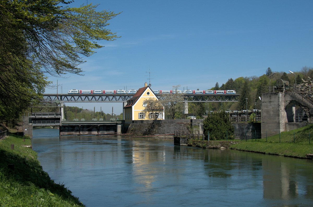
M 189 140 L 188 145 L 202 148 L 230 148 L 270 155 L 307 158 L 313 154 L 313 125 L 283 132 L 266 139 L 252 140 Z

